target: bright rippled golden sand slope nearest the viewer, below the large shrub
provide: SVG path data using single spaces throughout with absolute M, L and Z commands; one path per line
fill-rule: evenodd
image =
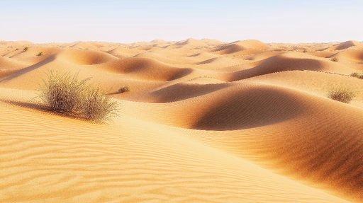
M 94 127 L 6 103 L 0 108 L 1 202 L 347 202 L 170 128 L 132 118 Z M 34 130 L 42 133 L 35 137 Z

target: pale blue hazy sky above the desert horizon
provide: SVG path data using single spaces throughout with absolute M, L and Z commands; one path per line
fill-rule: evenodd
M 362 0 L 0 0 L 0 40 L 363 41 Z

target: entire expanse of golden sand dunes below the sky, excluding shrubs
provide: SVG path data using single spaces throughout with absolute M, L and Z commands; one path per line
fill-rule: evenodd
M 39 110 L 49 69 L 92 77 L 119 116 Z M 0 202 L 363 202 L 362 71 L 357 41 L 0 40 Z

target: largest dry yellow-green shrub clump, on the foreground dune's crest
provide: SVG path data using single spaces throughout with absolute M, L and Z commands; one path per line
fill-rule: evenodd
M 39 87 L 38 98 L 47 110 L 79 117 L 91 122 L 105 122 L 116 115 L 117 103 L 111 101 L 104 91 L 87 85 L 88 79 L 78 80 L 78 74 L 61 75 L 48 72 L 48 80 Z

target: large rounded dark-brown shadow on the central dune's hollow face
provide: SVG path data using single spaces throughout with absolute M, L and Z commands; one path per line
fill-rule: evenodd
M 269 88 L 250 88 L 216 100 L 191 128 L 249 129 L 290 120 L 305 111 L 304 104 L 294 95 Z

